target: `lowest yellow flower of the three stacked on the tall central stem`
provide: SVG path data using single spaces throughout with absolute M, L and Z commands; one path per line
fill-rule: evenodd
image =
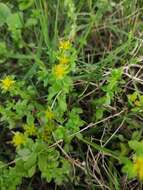
M 54 75 L 57 79 L 62 79 L 67 73 L 67 67 L 62 64 L 58 64 L 54 67 Z

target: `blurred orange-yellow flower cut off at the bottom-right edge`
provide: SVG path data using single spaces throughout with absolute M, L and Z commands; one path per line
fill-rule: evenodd
M 135 158 L 134 170 L 140 180 L 143 180 L 143 157 Z

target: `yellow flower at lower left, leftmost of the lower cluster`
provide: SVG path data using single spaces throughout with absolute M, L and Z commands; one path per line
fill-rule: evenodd
M 26 137 L 24 136 L 23 133 L 20 132 L 15 132 L 13 139 L 12 139 L 12 144 L 16 147 L 25 144 L 26 142 Z

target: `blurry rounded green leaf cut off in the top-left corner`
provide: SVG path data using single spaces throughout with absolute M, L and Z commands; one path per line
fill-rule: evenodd
M 11 16 L 11 10 L 4 3 L 0 3 L 0 26 L 6 23 L 7 18 Z

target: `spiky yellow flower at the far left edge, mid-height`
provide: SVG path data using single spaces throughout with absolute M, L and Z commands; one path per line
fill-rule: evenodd
M 8 91 L 13 85 L 15 81 L 12 79 L 12 77 L 7 76 L 3 80 L 1 80 L 1 87 L 3 90 Z

